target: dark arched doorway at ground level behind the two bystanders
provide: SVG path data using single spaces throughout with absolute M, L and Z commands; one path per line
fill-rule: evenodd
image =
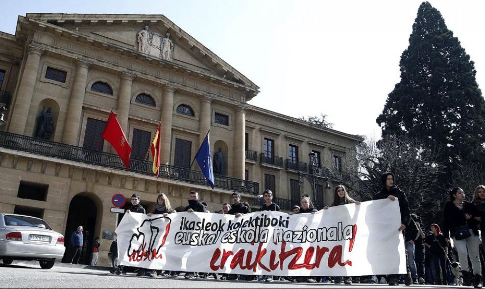
M 66 223 L 65 245 L 66 252 L 62 258 L 63 263 L 71 263 L 73 258 L 73 246 L 71 245 L 71 235 L 78 226 L 83 226 L 83 248 L 79 264 L 91 264 L 91 251 L 95 236 L 97 208 L 96 203 L 88 197 L 77 195 L 71 200 L 69 205 L 69 215 Z

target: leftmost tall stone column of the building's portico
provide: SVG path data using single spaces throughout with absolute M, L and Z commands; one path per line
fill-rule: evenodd
M 20 80 L 17 98 L 10 116 L 10 128 L 8 130 L 10 133 L 25 133 L 27 115 L 30 109 L 30 103 L 32 102 L 32 94 L 34 93 L 35 80 L 37 78 L 37 72 L 39 71 L 42 53 L 43 50 L 39 48 L 28 48 L 24 74 Z

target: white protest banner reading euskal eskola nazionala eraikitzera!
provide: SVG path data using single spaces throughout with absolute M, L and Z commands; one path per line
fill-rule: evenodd
M 397 201 L 348 204 L 315 214 L 256 212 L 167 217 L 125 214 L 121 265 L 278 276 L 406 274 Z

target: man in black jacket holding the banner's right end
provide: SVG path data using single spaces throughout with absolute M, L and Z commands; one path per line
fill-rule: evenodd
M 374 196 L 374 200 L 381 200 L 381 199 L 389 199 L 391 201 L 395 201 L 396 199 L 399 201 L 399 211 L 401 213 L 401 225 L 398 228 L 398 231 L 401 232 L 406 229 L 406 225 L 409 224 L 411 219 L 411 213 L 409 211 L 409 202 L 408 198 L 402 190 L 400 190 L 395 184 L 395 177 L 394 174 L 391 172 L 386 172 L 381 175 L 381 184 L 382 189 Z M 406 256 L 406 261 L 408 257 Z M 411 272 L 409 271 L 409 266 L 406 262 L 406 271 L 408 272 L 405 275 L 404 282 L 406 286 L 410 286 L 412 284 L 411 279 Z M 399 283 L 398 275 L 389 275 L 389 282 L 390 286 L 396 286 Z

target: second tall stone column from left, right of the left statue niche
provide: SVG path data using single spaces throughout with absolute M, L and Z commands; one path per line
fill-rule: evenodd
M 64 134 L 62 142 L 70 145 L 77 145 L 79 142 L 79 127 L 81 126 L 82 104 L 86 91 L 86 81 L 88 79 L 88 69 L 90 64 L 81 60 L 76 61 L 76 74 L 74 75 L 73 90 L 69 100 Z

